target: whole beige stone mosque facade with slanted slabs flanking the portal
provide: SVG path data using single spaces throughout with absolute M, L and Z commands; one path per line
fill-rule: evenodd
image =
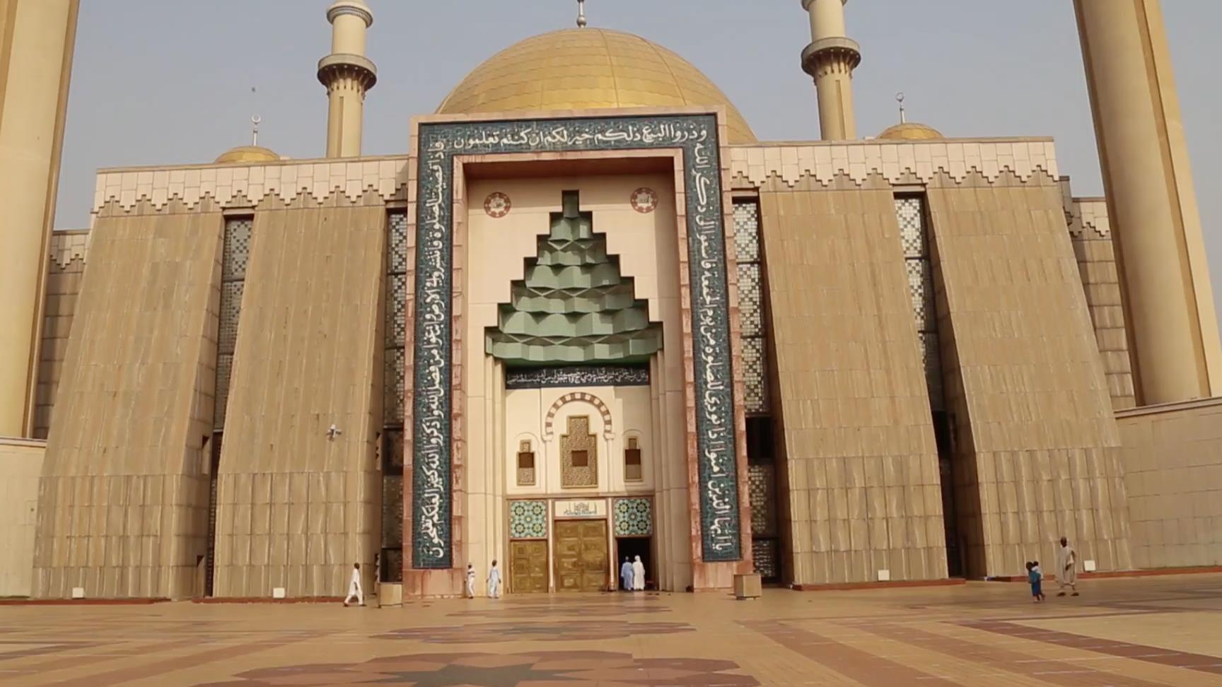
M 1222 446 L 1209 435 L 1212 406 L 1123 410 L 1134 402 L 1134 384 L 1106 208 L 1057 185 L 1051 142 L 722 148 L 717 216 L 743 549 L 728 567 L 703 572 L 701 483 L 688 457 L 699 397 L 693 366 L 703 350 L 689 298 L 703 280 L 681 248 L 692 240 L 690 203 L 700 189 L 688 186 L 682 155 L 511 150 L 496 161 L 507 166 L 486 154 L 456 159 L 451 523 L 456 555 L 481 570 L 506 557 L 511 499 L 567 496 L 541 482 L 506 482 L 519 436 L 505 425 L 512 403 L 496 391 L 507 386 L 506 368 L 483 355 L 486 328 L 497 324 L 497 307 L 522 279 L 522 260 L 535 255 L 565 189 L 583 192 L 621 277 L 633 280 L 648 317 L 662 324 L 648 372 L 600 373 L 635 385 L 622 394 L 609 386 L 602 396 L 650 407 L 642 416 L 612 403 L 607 412 L 651 427 L 635 436 L 645 454 L 640 483 L 612 469 L 623 467 L 627 436 L 617 429 L 606 441 L 599 469 L 621 477 L 600 484 L 595 500 L 610 512 L 618 499 L 645 499 L 664 588 L 727 586 L 730 571 L 750 565 L 750 533 L 764 532 L 750 527 L 747 498 L 748 372 L 769 379 L 759 397 L 771 406 L 777 460 L 752 474 L 776 480 L 769 535 L 780 539 L 786 583 L 943 578 L 947 517 L 971 576 L 1020 572 L 1029 557 L 1051 557 L 1062 534 L 1099 570 L 1217 560 L 1207 533 L 1217 515 L 1182 509 L 1207 494 L 1194 485 L 1207 483 L 1209 460 Z M 601 176 L 589 176 L 590 165 Z M 403 396 L 387 389 L 403 384 L 396 353 L 406 350 L 412 363 L 420 331 L 418 169 L 414 159 L 381 158 L 100 172 L 93 230 L 54 237 L 38 397 L 50 436 L 39 491 L 27 499 L 38 501 L 35 595 L 84 587 L 90 597 L 189 597 L 205 592 L 205 579 L 219 597 L 268 597 L 277 587 L 291 597 L 332 595 L 352 562 L 371 576 L 379 546 L 397 565 L 390 556 L 398 555 L 401 523 L 411 550 L 412 479 L 379 474 L 393 462 L 382 451 L 402 450 L 379 433 L 396 425 L 391 416 L 406 397 L 411 476 L 412 368 Z M 642 188 L 656 196 L 645 213 Z M 763 281 L 753 308 L 761 313 L 752 317 L 766 323 L 753 344 L 766 361 L 753 363 L 761 369 L 744 367 L 731 189 L 759 208 L 754 259 Z M 484 207 L 494 192 L 517 200 L 505 219 L 492 218 L 499 205 L 492 214 Z M 936 319 L 935 355 L 954 418 L 953 515 L 945 511 L 897 196 L 920 197 L 929 215 L 936 312 L 926 317 Z M 386 257 L 387 218 L 404 211 L 404 265 L 396 266 Z M 221 427 L 214 412 L 221 235 L 233 218 L 252 218 L 253 229 Z M 645 240 L 664 225 L 671 229 L 657 236 L 668 243 Z M 389 287 L 403 269 L 404 287 Z M 386 313 L 403 313 L 404 334 Z M 572 395 L 561 383 L 540 386 L 512 394 Z M 766 408 L 753 403 L 755 412 Z M 1113 407 L 1122 410 L 1119 428 Z M 53 408 L 87 419 L 61 424 Z M 555 424 L 558 446 L 574 412 L 539 407 L 530 422 Z M 591 406 L 587 414 L 598 434 L 602 412 Z M 332 424 L 341 433 L 329 434 Z M 1196 429 L 1166 429 L 1189 424 Z M 545 432 L 534 445 L 540 476 Z M 1180 446 L 1187 436 L 1191 444 Z M 1169 472 L 1150 463 L 1167 451 L 1187 462 Z M 382 513 L 384 484 L 403 485 L 402 517 L 398 494 L 386 501 L 393 512 Z M 1128 494 L 1134 500 L 1125 505 Z M 560 517 L 550 506 L 544 512 Z M 412 556 L 403 561 L 408 594 L 457 589 L 455 571 L 412 582 Z

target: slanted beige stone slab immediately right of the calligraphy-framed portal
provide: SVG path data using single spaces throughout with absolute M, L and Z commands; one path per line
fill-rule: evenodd
M 780 188 L 776 188 L 776 187 Z M 946 577 L 937 449 L 890 187 L 760 193 L 786 581 Z

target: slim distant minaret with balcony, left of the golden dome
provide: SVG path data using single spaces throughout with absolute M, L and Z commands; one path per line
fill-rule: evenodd
M 365 92 L 378 82 L 378 67 L 365 57 L 365 32 L 374 15 L 365 0 L 336 0 L 326 11 L 331 22 L 331 54 L 318 64 L 318 79 L 326 87 L 326 156 L 360 155 Z

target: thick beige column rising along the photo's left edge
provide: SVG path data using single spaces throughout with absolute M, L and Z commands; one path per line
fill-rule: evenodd
M 32 430 L 79 0 L 0 0 L 0 436 Z

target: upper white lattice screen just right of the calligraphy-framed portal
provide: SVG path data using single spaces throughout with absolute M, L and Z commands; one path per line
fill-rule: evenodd
M 734 203 L 734 253 L 738 260 L 738 315 L 742 326 L 747 412 L 769 412 L 767 346 L 764 325 L 764 271 L 760 264 L 759 203 Z

